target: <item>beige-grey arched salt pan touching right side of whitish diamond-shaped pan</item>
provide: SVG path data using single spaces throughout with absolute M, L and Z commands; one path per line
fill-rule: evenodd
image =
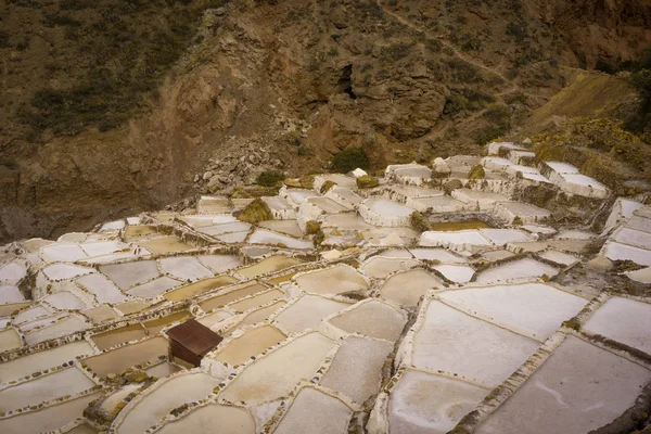
M 347 333 L 393 342 L 400 336 L 407 318 L 394 307 L 371 298 L 344 310 L 329 322 Z

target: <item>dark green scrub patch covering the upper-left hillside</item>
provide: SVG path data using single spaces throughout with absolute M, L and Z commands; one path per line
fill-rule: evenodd
M 86 127 L 110 130 L 145 111 L 164 74 L 188 48 L 203 11 L 226 1 L 43 4 L 33 14 L 40 16 L 58 55 L 44 60 L 52 84 L 43 82 L 17 111 L 27 138 L 37 141 L 48 130 L 66 136 Z M 0 34 L 0 47 L 8 43 Z

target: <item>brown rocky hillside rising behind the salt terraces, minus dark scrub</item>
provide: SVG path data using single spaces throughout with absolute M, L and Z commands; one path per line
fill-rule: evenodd
M 3 240 L 87 229 L 197 191 L 224 191 L 265 168 L 318 170 L 347 146 L 363 148 L 378 166 L 476 150 L 557 93 L 562 67 L 615 64 L 651 43 L 651 5 L 642 0 L 167 2 L 181 8 L 170 16 L 200 3 L 205 12 L 194 36 L 179 38 L 187 49 L 174 66 L 151 72 L 166 77 L 157 95 L 142 93 L 128 120 L 107 114 L 114 124 L 89 120 L 73 136 L 40 123 L 35 137 L 21 117 L 39 115 L 34 95 L 75 89 L 85 76 L 78 68 L 88 66 L 65 51 L 75 48 L 65 31 L 92 36 L 85 20 L 104 16 L 89 15 L 90 3 L 64 3 L 72 4 L 3 7 L 0 26 L 11 30 L 0 48 Z M 152 11 L 139 11 L 123 16 L 126 34 L 149 22 Z M 44 26 L 39 14 L 64 24 Z M 27 24 L 17 26 L 18 18 Z M 64 64 L 52 75 L 37 51 L 47 64 Z M 120 71 L 149 77 L 149 58 L 141 58 L 132 69 L 123 59 Z M 117 69 L 107 71 L 119 84 Z M 59 110 L 72 106 L 69 92 L 56 95 Z

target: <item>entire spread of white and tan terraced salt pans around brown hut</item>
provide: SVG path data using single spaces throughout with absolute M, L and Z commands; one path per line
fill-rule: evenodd
M 643 425 L 647 197 L 513 143 L 392 165 L 375 187 L 356 175 L 5 245 L 0 431 Z M 199 367 L 169 350 L 188 319 L 224 337 Z

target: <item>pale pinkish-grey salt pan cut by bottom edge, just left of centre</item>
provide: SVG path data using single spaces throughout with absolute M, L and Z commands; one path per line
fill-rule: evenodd
M 319 411 L 314 411 L 317 408 Z M 353 410 L 342 400 L 314 387 L 303 387 L 273 433 L 342 434 L 347 432 L 352 414 Z

